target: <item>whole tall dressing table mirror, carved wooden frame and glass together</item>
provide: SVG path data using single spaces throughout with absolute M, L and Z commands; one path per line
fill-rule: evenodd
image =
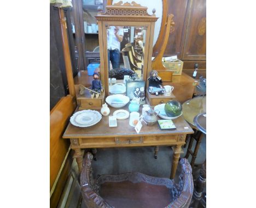
M 155 10 L 122 1 L 98 12 L 100 71 L 106 94 L 126 94 L 126 81 L 147 83 L 151 68 Z

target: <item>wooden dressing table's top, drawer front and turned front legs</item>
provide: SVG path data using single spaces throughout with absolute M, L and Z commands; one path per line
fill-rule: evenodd
M 109 106 L 112 115 L 117 109 Z M 76 110 L 78 111 L 78 109 Z M 141 109 L 139 111 L 141 114 Z M 160 118 L 159 118 L 160 119 Z M 117 127 L 108 126 L 108 117 L 102 116 L 99 123 L 90 127 L 73 126 L 70 122 L 65 130 L 64 139 L 70 139 L 71 149 L 75 151 L 79 170 L 82 170 L 83 149 L 85 148 L 120 148 L 120 147 L 139 147 L 139 146 L 173 146 L 173 161 L 171 169 L 171 179 L 174 179 L 179 157 L 182 151 L 182 145 L 185 144 L 187 134 L 194 133 L 183 116 L 174 119 L 173 123 L 176 130 L 160 130 L 158 124 L 147 126 L 143 123 L 141 131 L 137 134 L 134 127 L 129 125 L 129 118 L 118 120 Z

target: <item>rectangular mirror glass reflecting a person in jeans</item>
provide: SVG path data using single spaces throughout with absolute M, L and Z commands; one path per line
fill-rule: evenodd
M 127 80 L 143 80 L 146 28 L 108 26 L 108 84 L 110 94 L 126 93 Z

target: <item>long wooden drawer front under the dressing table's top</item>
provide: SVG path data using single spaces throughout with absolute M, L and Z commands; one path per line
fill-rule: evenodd
M 80 146 L 85 147 L 115 147 L 115 146 L 153 146 L 169 145 L 178 142 L 178 135 L 144 136 L 144 137 L 112 137 L 112 138 L 84 138 L 79 139 Z M 179 140 L 182 142 L 182 140 Z

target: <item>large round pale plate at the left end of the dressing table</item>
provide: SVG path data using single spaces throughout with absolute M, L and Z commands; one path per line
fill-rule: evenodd
M 78 127 L 88 127 L 97 124 L 102 118 L 102 115 L 97 111 L 83 110 L 78 111 L 70 118 L 71 124 Z

